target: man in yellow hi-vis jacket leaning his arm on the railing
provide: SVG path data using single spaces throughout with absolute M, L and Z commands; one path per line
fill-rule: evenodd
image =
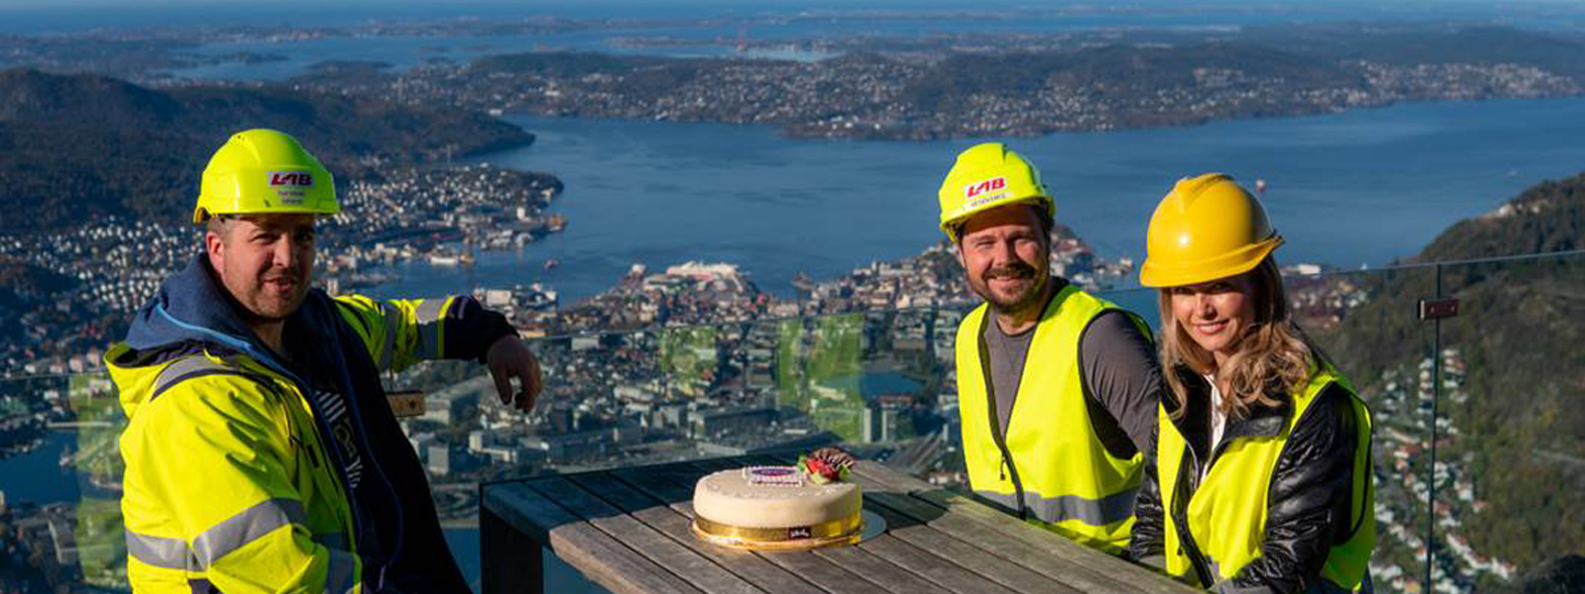
M 539 364 L 469 296 L 311 288 L 315 219 L 336 212 L 330 171 L 296 139 L 231 136 L 193 209 L 203 252 L 106 353 L 138 592 L 468 591 L 379 374 L 479 360 L 526 410 Z

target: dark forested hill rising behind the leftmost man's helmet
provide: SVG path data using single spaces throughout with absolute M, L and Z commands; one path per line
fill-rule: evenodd
M 482 112 L 418 108 L 292 87 L 144 89 L 35 70 L 0 71 L 0 231 L 49 230 L 103 214 L 176 222 L 198 174 L 246 128 L 295 135 L 338 181 L 534 136 Z

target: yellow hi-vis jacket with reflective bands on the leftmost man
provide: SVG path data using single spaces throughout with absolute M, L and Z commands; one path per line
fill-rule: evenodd
M 341 296 L 334 309 L 384 371 L 444 355 L 452 299 Z M 336 467 L 361 428 L 315 418 L 304 386 L 255 356 L 190 350 L 162 358 L 124 342 L 105 356 L 128 418 L 122 515 L 133 589 L 363 592 L 358 512 Z M 317 421 L 341 444 L 322 440 Z

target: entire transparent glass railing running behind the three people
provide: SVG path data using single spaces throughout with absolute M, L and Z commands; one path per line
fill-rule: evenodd
M 1460 298 L 1461 310 L 1442 320 L 1439 352 L 1436 325 L 1415 315 L 1420 299 L 1439 295 L 1436 266 L 1285 279 L 1295 318 L 1373 412 L 1379 591 L 1423 591 L 1428 542 L 1442 591 L 1501 588 L 1579 550 L 1574 526 L 1585 523 L 1571 515 L 1585 508 L 1585 409 L 1568 404 L 1585 385 L 1585 360 L 1558 345 L 1582 337 L 1582 260 L 1444 265 L 1441 293 Z M 1097 295 L 1159 328 L 1154 290 Z M 501 406 L 472 361 L 384 380 L 423 394 L 425 412 L 401 423 L 458 561 L 477 575 L 480 482 L 842 444 L 938 485 L 961 483 L 953 358 L 968 309 L 531 337 L 547 385 L 526 415 Z M 1436 505 L 1426 505 L 1433 423 Z M 0 532 L 36 558 L 29 575 L 55 580 L 40 584 L 125 586 L 124 425 L 105 374 L 0 380 Z

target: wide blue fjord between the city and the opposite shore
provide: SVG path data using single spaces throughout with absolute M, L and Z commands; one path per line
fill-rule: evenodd
M 539 139 L 479 158 L 550 171 L 567 228 L 477 265 L 395 266 L 371 293 L 412 295 L 534 280 L 563 304 L 610 287 L 632 263 L 742 265 L 791 295 L 797 272 L 829 279 L 918 253 L 940 238 L 937 185 L 964 147 L 777 136 L 773 127 L 509 117 Z M 1287 246 L 1284 263 L 1382 266 L 1453 222 L 1585 169 L 1585 98 L 1412 103 L 1344 114 L 1154 130 L 1006 138 L 1043 171 L 1057 219 L 1103 257 L 1144 252 L 1155 203 L 1182 176 L 1252 185 Z M 560 263 L 544 269 L 545 260 Z

